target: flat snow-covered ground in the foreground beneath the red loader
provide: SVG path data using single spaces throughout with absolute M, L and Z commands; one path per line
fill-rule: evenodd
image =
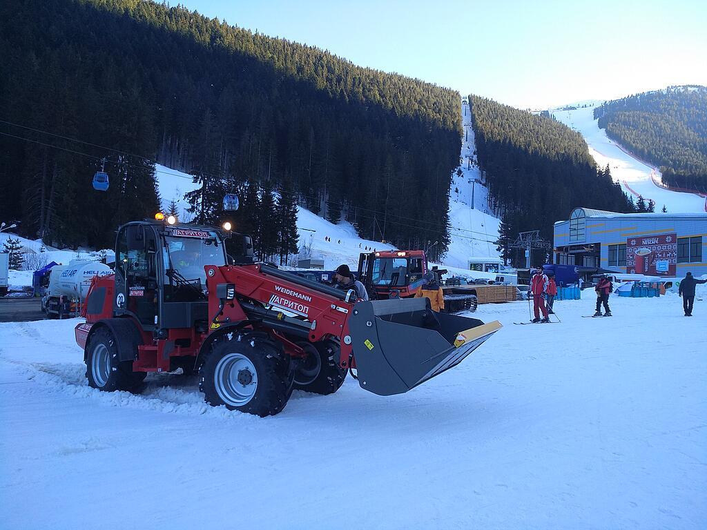
M 349 378 L 265 419 L 180 375 L 90 389 L 76 321 L 0 324 L 1 526 L 705 528 L 707 300 L 584 294 L 561 324 L 480 306 L 505 327 L 407 394 Z

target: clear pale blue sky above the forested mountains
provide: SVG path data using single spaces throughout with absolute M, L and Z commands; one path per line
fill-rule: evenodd
M 181 0 L 361 66 L 544 108 L 707 85 L 707 1 Z

